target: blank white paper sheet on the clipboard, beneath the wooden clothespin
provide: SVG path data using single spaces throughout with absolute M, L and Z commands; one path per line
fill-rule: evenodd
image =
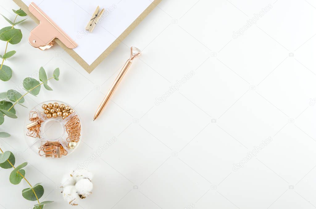
M 74 49 L 91 65 L 153 0 L 23 0 L 36 3 L 78 46 Z M 93 33 L 85 31 L 97 6 L 106 9 Z

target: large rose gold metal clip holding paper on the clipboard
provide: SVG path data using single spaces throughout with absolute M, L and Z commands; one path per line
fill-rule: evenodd
M 72 40 L 58 25 L 52 21 L 34 2 L 29 7 L 29 11 L 40 21 L 28 38 L 28 42 L 35 48 L 41 50 L 52 47 L 54 39 L 59 39 L 63 44 L 73 49 L 78 45 Z

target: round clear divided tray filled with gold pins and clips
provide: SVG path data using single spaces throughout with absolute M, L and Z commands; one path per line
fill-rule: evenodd
M 43 105 L 47 107 L 43 109 Z M 52 100 L 33 107 L 25 120 L 24 133 L 27 146 L 40 157 L 64 158 L 79 146 L 82 125 L 75 109 Z

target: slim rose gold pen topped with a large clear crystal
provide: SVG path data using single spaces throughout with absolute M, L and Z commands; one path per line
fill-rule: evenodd
M 123 76 L 125 75 L 127 69 L 131 66 L 133 59 L 135 57 L 139 57 L 140 55 L 141 55 L 141 52 L 140 52 L 139 49 L 137 49 L 136 47 L 131 47 L 131 57 L 126 61 L 125 65 L 121 69 L 121 72 L 119 72 L 119 75 L 116 77 L 112 87 L 107 92 L 107 94 L 106 94 L 105 98 L 103 99 L 101 105 L 99 106 L 99 108 L 95 112 L 93 120 L 95 120 L 101 114 L 101 112 L 104 109 L 104 107 L 106 106 L 106 104 L 110 101 L 113 92 L 118 87 L 118 85 L 121 82 L 121 80 L 123 79 Z

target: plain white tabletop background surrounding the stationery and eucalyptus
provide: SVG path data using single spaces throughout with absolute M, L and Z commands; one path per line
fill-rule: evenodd
M 257 24 L 233 38 L 269 4 Z M 83 119 L 82 143 L 64 159 L 38 157 L 24 141 L 29 109 L 16 106 L 19 118 L 6 117 L 1 126 L 12 136 L 0 146 L 15 154 L 16 164 L 29 163 L 27 179 L 45 188 L 41 200 L 55 201 L 47 209 L 73 208 L 62 200 L 61 177 L 113 137 L 117 141 L 88 164 L 94 190 L 77 208 L 314 208 L 315 7 L 312 0 L 163 0 L 90 75 L 59 46 L 32 48 L 27 37 L 36 24 L 28 19 L 17 26 L 21 43 L 9 45 L 17 53 L 5 64 L 14 75 L 0 82 L 1 92 L 40 66 L 48 74 L 59 67 L 60 81 L 49 82 L 54 91 L 28 95 L 25 105 L 52 99 L 73 105 Z M 13 20 L 11 8 L 18 7 L 1 1 L 0 13 Z M 3 53 L 5 43 L 0 46 Z M 143 56 L 93 122 L 130 46 Z M 269 144 L 233 170 L 268 137 Z M 0 208 L 31 207 L 21 196 L 27 184 L 11 185 L 10 171 L 0 170 Z

